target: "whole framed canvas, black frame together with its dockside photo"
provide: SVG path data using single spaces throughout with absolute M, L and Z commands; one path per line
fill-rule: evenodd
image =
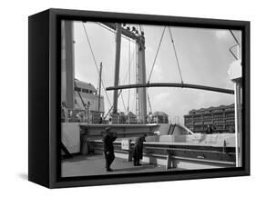
M 29 181 L 250 174 L 250 22 L 64 9 L 28 22 Z

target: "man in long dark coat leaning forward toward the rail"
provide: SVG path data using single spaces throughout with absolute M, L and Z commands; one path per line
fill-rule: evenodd
M 139 163 L 139 160 L 142 160 L 142 156 L 143 156 L 143 142 L 146 142 L 145 138 L 146 138 L 146 134 L 144 134 L 143 136 L 138 137 L 135 140 L 134 143 L 134 150 L 133 150 L 133 165 L 134 166 L 138 166 L 141 165 Z

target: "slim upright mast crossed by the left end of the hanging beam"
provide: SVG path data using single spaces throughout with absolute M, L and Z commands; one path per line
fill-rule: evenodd
M 119 83 L 120 53 L 121 53 L 121 24 L 117 24 L 114 86 L 118 86 L 118 83 Z M 114 91 L 113 113 L 118 113 L 118 90 Z

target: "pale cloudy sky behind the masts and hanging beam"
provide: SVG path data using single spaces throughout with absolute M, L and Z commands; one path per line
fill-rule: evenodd
M 113 86 L 116 35 L 99 23 L 87 22 L 84 25 L 97 66 L 100 63 L 103 64 L 102 80 L 104 86 L 105 88 Z M 138 25 L 130 26 L 137 27 Z M 160 25 L 142 25 L 142 27 L 145 32 L 148 81 L 164 27 Z M 230 54 L 229 49 L 230 46 L 236 43 L 229 30 L 175 26 L 171 26 L 170 29 L 173 34 L 180 70 L 185 84 L 201 84 L 233 89 L 228 70 L 235 59 Z M 75 22 L 74 32 L 75 77 L 78 80 L 94 84 L 97 88 L 97 67 L 90 52 L 82 22 Z M 233 32 L 241 41 L 241 32 Z M 135 84 L 136 82 L 135 46 L 134 41 L 122 37 L 119 84 Z M 129 64 L 130 72 L 128 72 Z M 130 77 L 128 77 L 129 74 Z M 150 83 L 180 83 L 180 81 L 174 49 L 168 28 L 166 28 L 150 77 Z M 171 119 L 178 116 L 179 123 L 182 124 L 184 123 L 183 115 L 188 114 L 192 109 L 234 103 L 234 95 L 232 94 L 220 94 L 204 90 L 153 87 L 148 88 L 147 91 L 153 112 L 162 111 L 168 113 Z M 108 98 L 104 90 L 102 90 L 102 94 L 104 95 L 105 112 L 107 113 L 113 103 L 113 91 L 108 91 Z M 119 112 L 127 112 L 128 106 L 129 111 L 135 113 L 135 89 L 123 90 L 122 96 L 118 99 Z

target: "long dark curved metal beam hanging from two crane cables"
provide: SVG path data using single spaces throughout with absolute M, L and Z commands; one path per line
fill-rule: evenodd
M 108 87 L 106 88 L 106 90 L 107 91 L 121 90 L 121 89 L 131 89 L 131 88 L 140 88 L 140 87 L 181 87 L 181 88 L 200 89 L 200 90 L 218 92 L 223 94 L 234 94 L 234 91 L 230 89 L 210 87 L 210 86 L 198 85 L 198 84 L 179 84 L 179 83 L 125 84 L 125 85 Z

